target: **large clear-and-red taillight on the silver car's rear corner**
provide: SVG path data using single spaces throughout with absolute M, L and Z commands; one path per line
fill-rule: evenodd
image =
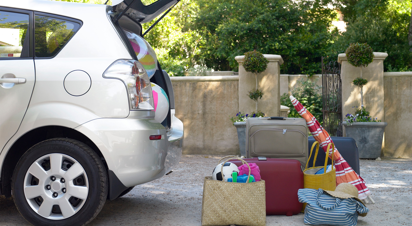
M 105 71 L 105 78 L 120 79 L 127 87 L 130 110 L 154 110 L 152 86 L 145 68 L 135 60 L 118 60 Z

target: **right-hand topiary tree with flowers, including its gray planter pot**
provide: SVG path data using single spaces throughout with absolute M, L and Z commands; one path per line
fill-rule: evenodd
M 362 68 L 372 63 L 375 55 L 367 43 L 352 43 L 345 53 L 349 64 L 361 68 L 361 76 L 351 82 L 361 88 L 361 107 L 356 106 L 354 114 L 346 114 L 342 124 L 345 126 L 346 136 L 356 140 L 359 158 L 378 158 L 381 155 L 384 129 L 387 123 L 371 117 L 366 110 L 363 104 L 363 86 L 368 84 L 368 80 L 362 78 Z

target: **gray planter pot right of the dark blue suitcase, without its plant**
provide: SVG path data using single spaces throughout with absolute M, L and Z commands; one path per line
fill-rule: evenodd
M 344 121 L 346 137 L 352 137 L 358 144 L 359 158 L 381 156 L 382 140 L 387 122 L 354 122 L 351 126 Z

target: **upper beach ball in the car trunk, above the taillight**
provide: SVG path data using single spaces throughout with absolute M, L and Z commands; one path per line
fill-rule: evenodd
M 153 50 L 150 44 L 139 35 L 127 30 L 124 30 L 124 33 L 133 47 L 137 60 L 143 65 L 143 68 L 145 68 L 150 79 L 153 75 L 155 75 L 157 70 L 157 57 L 155 50 Z

